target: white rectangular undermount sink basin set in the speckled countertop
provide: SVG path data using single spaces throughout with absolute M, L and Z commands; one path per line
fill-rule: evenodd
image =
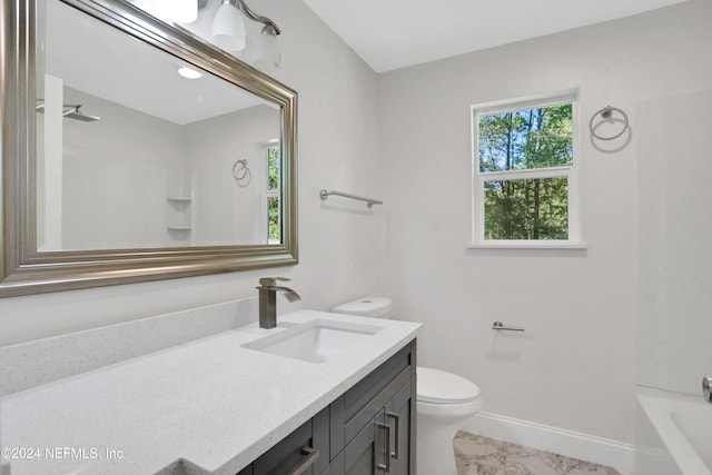
M 289 326 L 243 347 L 309 363 L 325 363 L 366 343 L 380 329 L 372 325 L 316 319 Z

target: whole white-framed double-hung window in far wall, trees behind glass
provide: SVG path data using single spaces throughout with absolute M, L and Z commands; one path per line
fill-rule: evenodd
M 477 246 L 578 246 L 572 95 L 473 106 Z

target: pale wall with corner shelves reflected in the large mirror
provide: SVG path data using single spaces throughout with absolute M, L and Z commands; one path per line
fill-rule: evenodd
M 266 243 L 264 145 L 279 138 L 278 109 L 180 126 L 73 89 L 65 103 L 101 120 L 65 119 L 62 240 L 42 250 Z M 250 169 L 244 187 L 238 159 Z M 176 196 L 192 201 L 167 202 Z

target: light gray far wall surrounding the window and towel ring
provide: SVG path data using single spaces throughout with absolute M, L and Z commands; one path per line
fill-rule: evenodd
M 379 77 L 390 235 L 378 291 L 426 324 L 421 363 L 476 382 L 484 410 L 633 442 L 640 140 L 670 140 L 679 166 L 698 151 L 664 127 L 642 130 L 639 105 L 710 90 L 711 16 L 693 1 Z M 580 89 L 587 249 L 467 249 L 469 106 L 568 88 Z M 631 119 L 614 152 L 621 142 L 599 149 L 587 131 L 606 105 Z M 494 320 L 526 333 L 497 335 Z

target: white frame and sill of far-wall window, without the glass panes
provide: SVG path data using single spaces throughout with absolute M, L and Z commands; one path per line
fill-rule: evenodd
M 469 248 L 585 248 L 581 236 L 578 170 L 581 169 L 578 93 L 576 90 L 486 102 L 471 106 L 472 130 L 472 241 Z M 572 105 L 573 164 L 565 167 L 532 168 L 505 171 L 479 170 L 479 117 L 537 107 Z M 485 239 L 485 181 L 536 178 L 567 179 L 567 239 Z

